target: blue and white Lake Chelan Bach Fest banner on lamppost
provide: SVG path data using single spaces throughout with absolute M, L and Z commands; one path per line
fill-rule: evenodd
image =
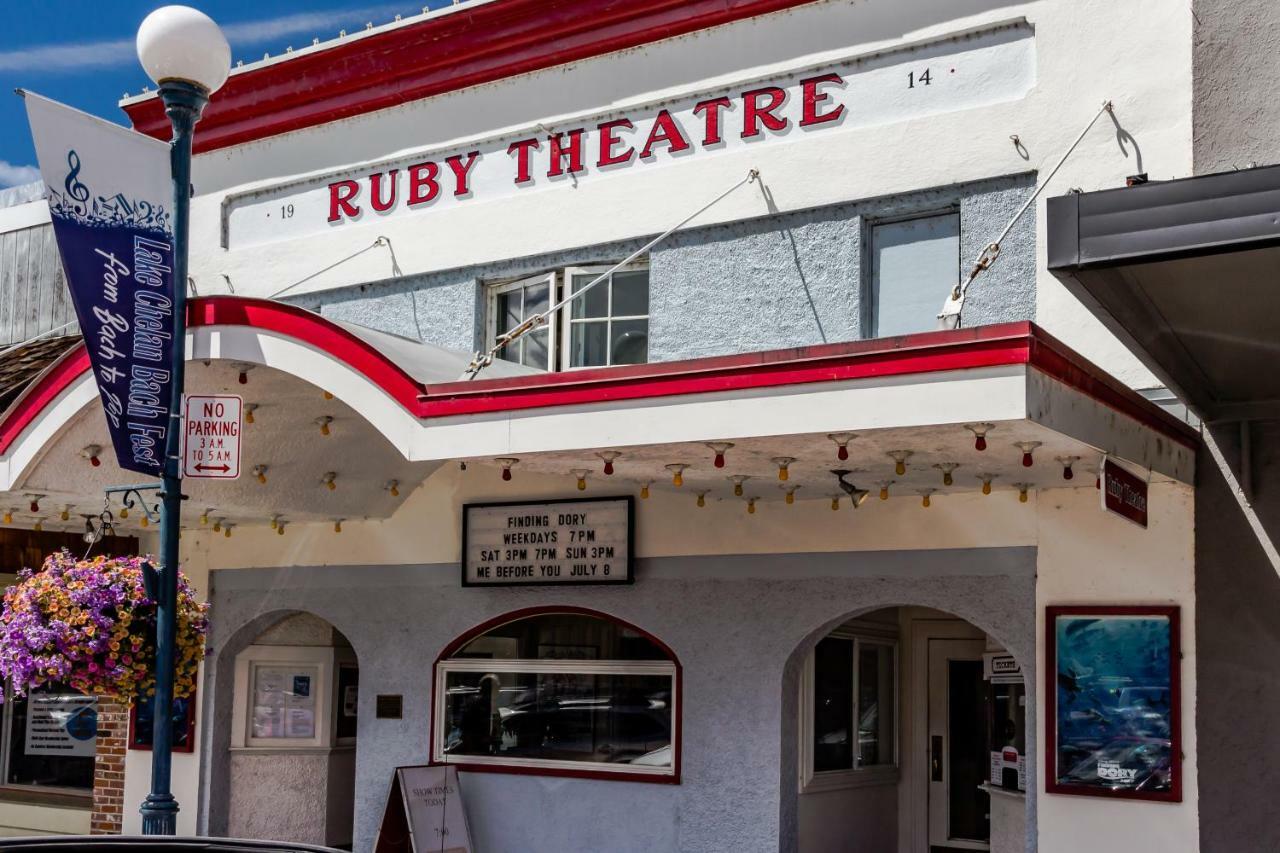
M 169 145 L 23 95 L 115 457 L 159 476 L 174 347 Z

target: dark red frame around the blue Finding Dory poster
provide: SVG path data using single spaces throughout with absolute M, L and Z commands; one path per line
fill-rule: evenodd
M 1096 790 L 1057 783 L 1057 617 L 1059 616 L 1167 616 L 1169 617 L 1169 701 L 1170 719 L 1170 770 L 1169 792 Z M 1181 608 L 1176 606 L 1124 606 L 1093 605 L 1071 607 L 1066 605 L 1044 608 L 1044 792 L 1074 797 L 1103 797 L 1106 799 L 1146 799 L 1164 803 L 1183 802 L 1183 652 Z

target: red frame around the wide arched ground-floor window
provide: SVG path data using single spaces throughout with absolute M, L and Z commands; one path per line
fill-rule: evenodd
M 628 774 L 628 772 L 608 772 L 600 770 L 570 770 L 562 767 L 527 767 L 524 765 L 471 765 L 466 761 L 436 761 L 435 760 L 435 688 L 439 683 L 439 666 L 440 662 L 452 656 L 454 652 L 465 647 L 467 643 L 474 640 L 476 637 L 492 631 L 502 625 L 508 625 L 511 622 L 518 621 L 521 619 L 529 619 L 530 616 L 545 616 L 547 613 L 575 613 L 577 616 L 590 616 L 593 619 L 602 619 L 640 634 L 650 643 L 660 648 L 671 662 L 676 665 L 676 719 L 672 721 L 672 727 L 675 731 L 675 749 L 672 751 L 672 775 L 669 776 L 657 776 L 650 774 Z M 476 774 L 511 774 L 516 776 L 567 776 L 571 779 L 609 779 L 614 781 L 640 781 L 640 783 L 653 783 L 658 785 L 678 785 L 681 774 L 681 756 L 685 751 L 685 738 L 684 738 L 684 725 L 682 720 L 685 717 L 685 667 L 680 663 L 680 657 L 676 652 L 662 642 L 659 638 L 654 637 L 645 629 L 628 622 L 625 619 L 614 616 L 613 613 L 607 613 L 603 610 L 591 610 L 590 607 L 577 607 L 573 605 L 544 605 L 539 607 L 524 607 L 521 610 L 513 610 L 500 616 L 494 616 L 493 619 L 480 622 L 475 628 L 463 631 L 451 643 L 448 643 L 440 653 L 435 657 L 435 663 L 431 665 L 431 704 L 428 708 L 428 742 L 426 742 L 426 754 L 428 762 L 434 766 L 449 765 L 451 767 L 457 767 L 458 770 Z

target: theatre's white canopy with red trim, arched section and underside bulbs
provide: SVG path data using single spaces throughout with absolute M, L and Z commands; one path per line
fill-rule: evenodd
M 434 350 L 288 305 L 196 300 L 188 392 L 239 393 L 255 419 L 241 479 L 184 484 L 192 521 L 384 519 L 445 462 L 494 483 L 506 466 L 566 489 L 762 502 L 792 487 L 797 500 L 844 497 L 833 470 L 915 500 L 1089 483 L 1103 455 L 1156 482 L 1193 476 L 1185 424 L 1028 323 L 474 382 L 440 382 L 462 356 Z M 88 464 L 84 448 L 105 443 L 77 348 L 0 416 L 0 508 L 17 524 L 83 526 L 105 487 L 136 480 L 110 453 Z

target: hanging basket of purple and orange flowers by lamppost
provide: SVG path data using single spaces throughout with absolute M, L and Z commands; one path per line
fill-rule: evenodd
M 156 606 L 142 564 L 150 557 L 77 561 L 50 555 L 23 569 L 0 610 L 0 675 L 18 695 L 45 684 L 131 701 L 155 692 Z M 178 573 L 174 695 L 191 695 L 205 656 L 209 605 Z

